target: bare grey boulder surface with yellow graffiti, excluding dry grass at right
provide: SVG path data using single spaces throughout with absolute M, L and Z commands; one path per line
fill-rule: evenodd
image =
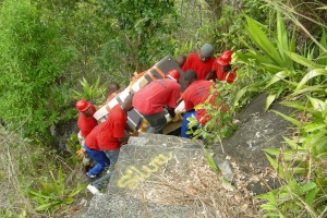
M 131 137 L 121 148 L 107 193 L 95 195 L 87 211 L 77 217 L 204 217 L 202 207 L 171 197 L 183 193 L 174 184 L 191 183 L 192 168 L 199 164 L 206 165 L 202 146 L 190 140 L 155 134 Z

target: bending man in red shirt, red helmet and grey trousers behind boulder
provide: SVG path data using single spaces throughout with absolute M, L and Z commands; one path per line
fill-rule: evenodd
M 181 94 L 180 73 L 169 71 L 166 78 L 153 81 L 135 94 L 134 108 L 148 121 L 149 133 L 161 133 L 167 124 L 165 107 L 171 118 Z

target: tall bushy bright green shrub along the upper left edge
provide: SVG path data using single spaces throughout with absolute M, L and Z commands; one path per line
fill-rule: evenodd
M 0 117 L 24 136 L 49 140 L 69 101 L 64 70 L 72 58 L 58 21 L 43 20 L 31 1 L 2 1 Z

